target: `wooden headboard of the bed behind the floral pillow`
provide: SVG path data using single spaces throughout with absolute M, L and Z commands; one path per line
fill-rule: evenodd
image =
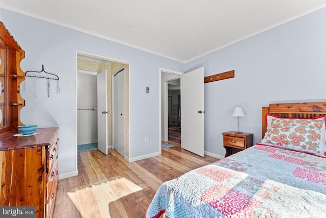
M 284 118 L 313 118 L 326 114 L 326 102 L 269 104 L 261 109 L 262 137 L 267 131 L 266 114 Z

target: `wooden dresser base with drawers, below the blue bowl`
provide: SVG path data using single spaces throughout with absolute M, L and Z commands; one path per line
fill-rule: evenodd
M 58 186 L 59 128 L 38 135 L 0 135 L 0 206 L 35 206 L 36 217 L 52 217 Z

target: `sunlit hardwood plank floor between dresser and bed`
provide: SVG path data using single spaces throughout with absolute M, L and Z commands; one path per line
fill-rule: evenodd
M 172 147 L 128 163 L 115 150 L 78 153 L 78 176 L 59 180 L 53 217 L 144 217 L 159 185 L 215 162 Z

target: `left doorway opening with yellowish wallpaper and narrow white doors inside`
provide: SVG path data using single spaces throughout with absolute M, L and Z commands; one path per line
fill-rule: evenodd
M 76 108 L 77 108 L 77 151 L 87 151 L 98 149 L 104 154 L 107 154 L 108 149 L 116 149 L 123 155 L 124 159 L 129 158 L 129 63 L 98 56 L 85 52 L 76 52 Z M 113 96 L 114 90 L 114 74 L 119 69 L 123 69 L 123 77 L 120 83 L 123 83 L 123 88 L 117 93 L 119 96 Z M 106 70 L 106 73 L 105 71 Z M 102 72 L 102 73 L 101 73 Z M 106 74 L 105 77 L 99 79 L 103 82 L 106 80 L 107 86 L 99 91 L 97 76 Z M 122 75 L 122 74 L 121 74 Z M 117 85 L 116 87 L 119 87 Z M 99 93 L 98 93 L 99 92 Z M 104 92 L 104 93 L 103 93 Z M 98 95 L 100 94 L 100 95 Z M 107 95 L 105 97 L 105 95 Z M 98 97 L 101 96 L 101 97 Z M 104 97 L 103 97 L 104 96 Z M 101 98 L 99 100 L 98 98 Z M 102 99 L 104 98 L 104 100 Z M 106 103 L 105 103 L 106 99 Z M 114 102 L 119 100 L 122 105 L 120 112 L 120 131 L 114 131 Z M 100 102 L 99 102 L 100 101 Z M 105 109 L 100 108 L 98 103 L 104 103 Z M 103 104 L 102 104 L 103 105 Z M 119 111 L 118 110 L 118 111 Z M 98 124 L 101 123 L 101 127 Z M 104 126 L 103 126 L 104 125 Z M 119 134 L 119 146 L 113 143 L 113 133 Z M 101 140 L 100 138 L 101 137 Z M 102 147 L 99 143 L 103 144 Z M 107 148 L 105 144 L 107 143 Z M 84 147 L 84 148 L 83 148 Z

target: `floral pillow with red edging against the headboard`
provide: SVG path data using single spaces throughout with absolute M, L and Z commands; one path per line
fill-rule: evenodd
M 326 156 L 325 116 L 313 119 L 268 116 L 267 132 L 261 143 Z

